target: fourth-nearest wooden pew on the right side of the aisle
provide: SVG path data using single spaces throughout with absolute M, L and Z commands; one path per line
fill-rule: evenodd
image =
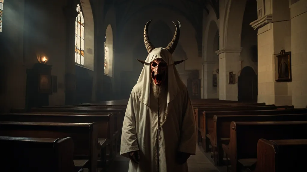
M 256 107 L 243 108 L 229 108 L 227 110 L 220 109 L 220 111 L 204 111 L 202 114 L 199 131 L 201 133 L 201 144 L 206 152 L 209 151 L 210 137 L 213 132 L 213 116 L 214 115 L 274 115 L 274 114 L 305 114 L 307 109 L 286 109 L 286 110 L 257 110 Z M 270 109 L 270 108 L 269 108 Z M 224 111 L 223 111 L 224 110 Z

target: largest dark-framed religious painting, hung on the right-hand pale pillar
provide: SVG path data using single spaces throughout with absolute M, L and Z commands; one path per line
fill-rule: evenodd
M 291 82 L 291 52 L 280 51 L 277 56 L 277 82 Z

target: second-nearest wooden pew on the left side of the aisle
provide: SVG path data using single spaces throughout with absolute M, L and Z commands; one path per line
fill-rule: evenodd
M 98 125 L 96 123 L 0 122 L 0 136 L 64 138 L 74 142 L 75 166 L 97 172 Z

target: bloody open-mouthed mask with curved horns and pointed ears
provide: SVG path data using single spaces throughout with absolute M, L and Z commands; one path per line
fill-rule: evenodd
M 148 53 L 150 53 L 152 50 L 156 48 L 152 45 L 152 43 L 150 42 L 149 36 L 148 36 L 148 27 L 149 27 L 150 22 L 151 20 L 146 23 L 145 28 L 144 28 L 144 43 L 145 43 L 145 47 Z M 180 27 L 181 27 L 180 22 L 177 20 L 177 23 L 174 23 L 174 24 L 176 26 L 175 35 L 173 37 L 173 40 L 165 48 L 167 51 L 169 51 L 170 54 L 173 54 L 174 50 L 176 49 L 176 46 L 179 41 L 179 36 L 180 36 Z M 150 75 L 155 85 L 160 86 L 167 79 L 168 64 L 162 58 L 155 58 L 150 63 L 146 63 L 145 61 L 142 61 L 139 59 L 137 60 L 144 65 L 150 65 L 150 68 L 151 68 Z M 177 64 L 182 63 L 183 61 L 185 60 L 174 61 L 174 63 L 170 65 L 177 65 Z

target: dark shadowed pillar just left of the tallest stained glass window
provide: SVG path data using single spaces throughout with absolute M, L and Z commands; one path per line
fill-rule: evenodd
M 73 6 L 73 5 L 72 5 Z M 67 50 L 65 58 L 65 104 L 75 103 L 76 67 L 75 67 L 75 21 L 78 15 L 76 7 L 67 6 L 63 9 L 67 23 Z

